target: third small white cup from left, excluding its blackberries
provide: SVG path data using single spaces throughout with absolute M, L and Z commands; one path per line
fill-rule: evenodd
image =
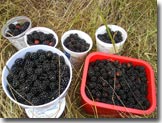
M 64 41 L 67 37 L 70 36 L 70 34 L 78 34 L 78 36 L 81 39 L 84 39 L 88 44 L 90 44 L 89 49 L 84 52 L 74 52 L 66 48 L 66 46 L 64 45 Z M 87 33 L 80 31 L 80 30 L 69 30 L 65 32 L 61 37 L 61 44 L 62 44 L 65 55 L 70 59 L 71 64 L 76 69 L 79 68 L 80 65 L 83 63 L 87 53 L 92 49 L 92 46 L 93 46 L 91 37 Z

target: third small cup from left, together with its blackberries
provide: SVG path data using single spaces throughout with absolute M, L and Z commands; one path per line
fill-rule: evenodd
M 91 37 L 80 30 L 65 32 L 61 37 L 61 43 L 65 55 L 76 69 L 82 65 L 87 53 L 93 46 Z

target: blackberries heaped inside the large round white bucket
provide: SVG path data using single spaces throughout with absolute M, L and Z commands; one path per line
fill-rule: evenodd
M 7 88 L 22 104 L 42 105 L 56 99 L 69 79 L 70 69 L 63 56 L 38 50 L 15 60 L 7 76 Z

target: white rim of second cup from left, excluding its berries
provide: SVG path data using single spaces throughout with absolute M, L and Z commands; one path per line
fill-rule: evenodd
M 54 38 L 56 39 L 56 43 L 55 43 L 55 45 L 54 45 L 53 47 L 56 47 L 56 46 L 57 46 L 57 44 L 58 44 L 58 36 L 57 36 L 57 34 L 56 34 L 53 30 L 51 30 L 51 29 L 49 29 L 49 28 L 46 28 L 46 27 L 34 27 L 34 28 L 31 28 L 30 30 L 28 30 L 28 31 L 25 33 L 25 36 L 24 36 L 25 43 L 26 43 L 26 45 L 27 45 L 28 47 L 31 46 L 31 45 L 29 45 L 29 44 L 27 43 L 27 35 L 32 34 L 34 31 L 43 32 L 43 33 L 45 33 L 45 34 L 51 33 L 51 34 L 54 36 Z

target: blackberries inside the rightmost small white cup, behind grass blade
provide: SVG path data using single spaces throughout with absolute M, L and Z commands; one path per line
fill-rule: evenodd
M 122 34 L 120 31 L 114 32 L 114 31 L 111 31 L 111 29 L 109 29 L 109 30 L 110 30 L 111 36 L 114 39 L 115 43 L 119 43 L 123 40 L 123 37 L 122 37 Z M 97 35 L 97 37 L 105 43 L 112 44 L 111 38 L 110 38 L 109 34 L 107 34 L 107 32 L 104 34 L 99 34 L 99 35 Z

